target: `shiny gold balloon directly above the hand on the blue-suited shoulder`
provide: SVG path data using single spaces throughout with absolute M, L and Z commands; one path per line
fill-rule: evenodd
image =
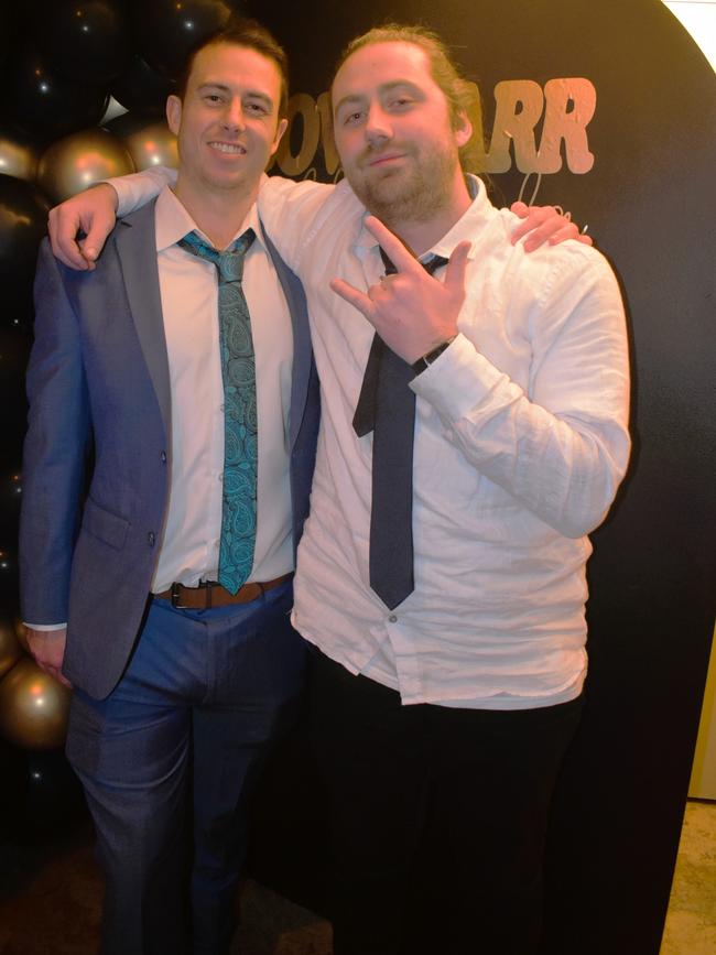
M 100 180 L 133 173 L 127 146 L 106 129 L 86 129 L 53 143 L 40 160 L 37 185 L 56 203 Z

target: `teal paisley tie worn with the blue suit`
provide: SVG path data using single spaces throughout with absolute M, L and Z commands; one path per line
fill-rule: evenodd
M 231 594 L 241 587 L 253 566 L 258 427 L 256 362 L 251 318 L 241 289 L 243 258 L 256 238 L 247 229 L 219 252 L 196 232 L 178 245 L 213 262 L 219 273 L 219 339 L 224 380 L 224 500 L 219 584 Z

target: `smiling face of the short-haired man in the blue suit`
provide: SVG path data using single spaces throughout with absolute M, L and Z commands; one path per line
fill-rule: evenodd
M 227 191 L 256 197 L 286 127 L 279 120 L 280 97 L 276 64 L 256 50 L 215 43 L 196 54 L 184 98 L 166 101 L 178 138 L 180 199 Z

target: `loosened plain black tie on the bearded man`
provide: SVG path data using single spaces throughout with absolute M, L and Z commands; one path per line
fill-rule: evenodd
M 386 274 L 397 269 L 380 250 Z M 447 259 L 433 256 L 423 268 L 432 275 Z M 370 512 L 370 586 L 391 610 L 413 592 L 413 433 L 415 377 L 377 334 L 366 365 L 352 425 L 358 437 L 373 432 Z

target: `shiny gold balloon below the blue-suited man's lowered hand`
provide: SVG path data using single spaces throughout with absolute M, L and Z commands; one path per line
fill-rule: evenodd
M 24 658 L 0 682 L 0 731 L 25 749 L 65 741 L 70 692 Z

